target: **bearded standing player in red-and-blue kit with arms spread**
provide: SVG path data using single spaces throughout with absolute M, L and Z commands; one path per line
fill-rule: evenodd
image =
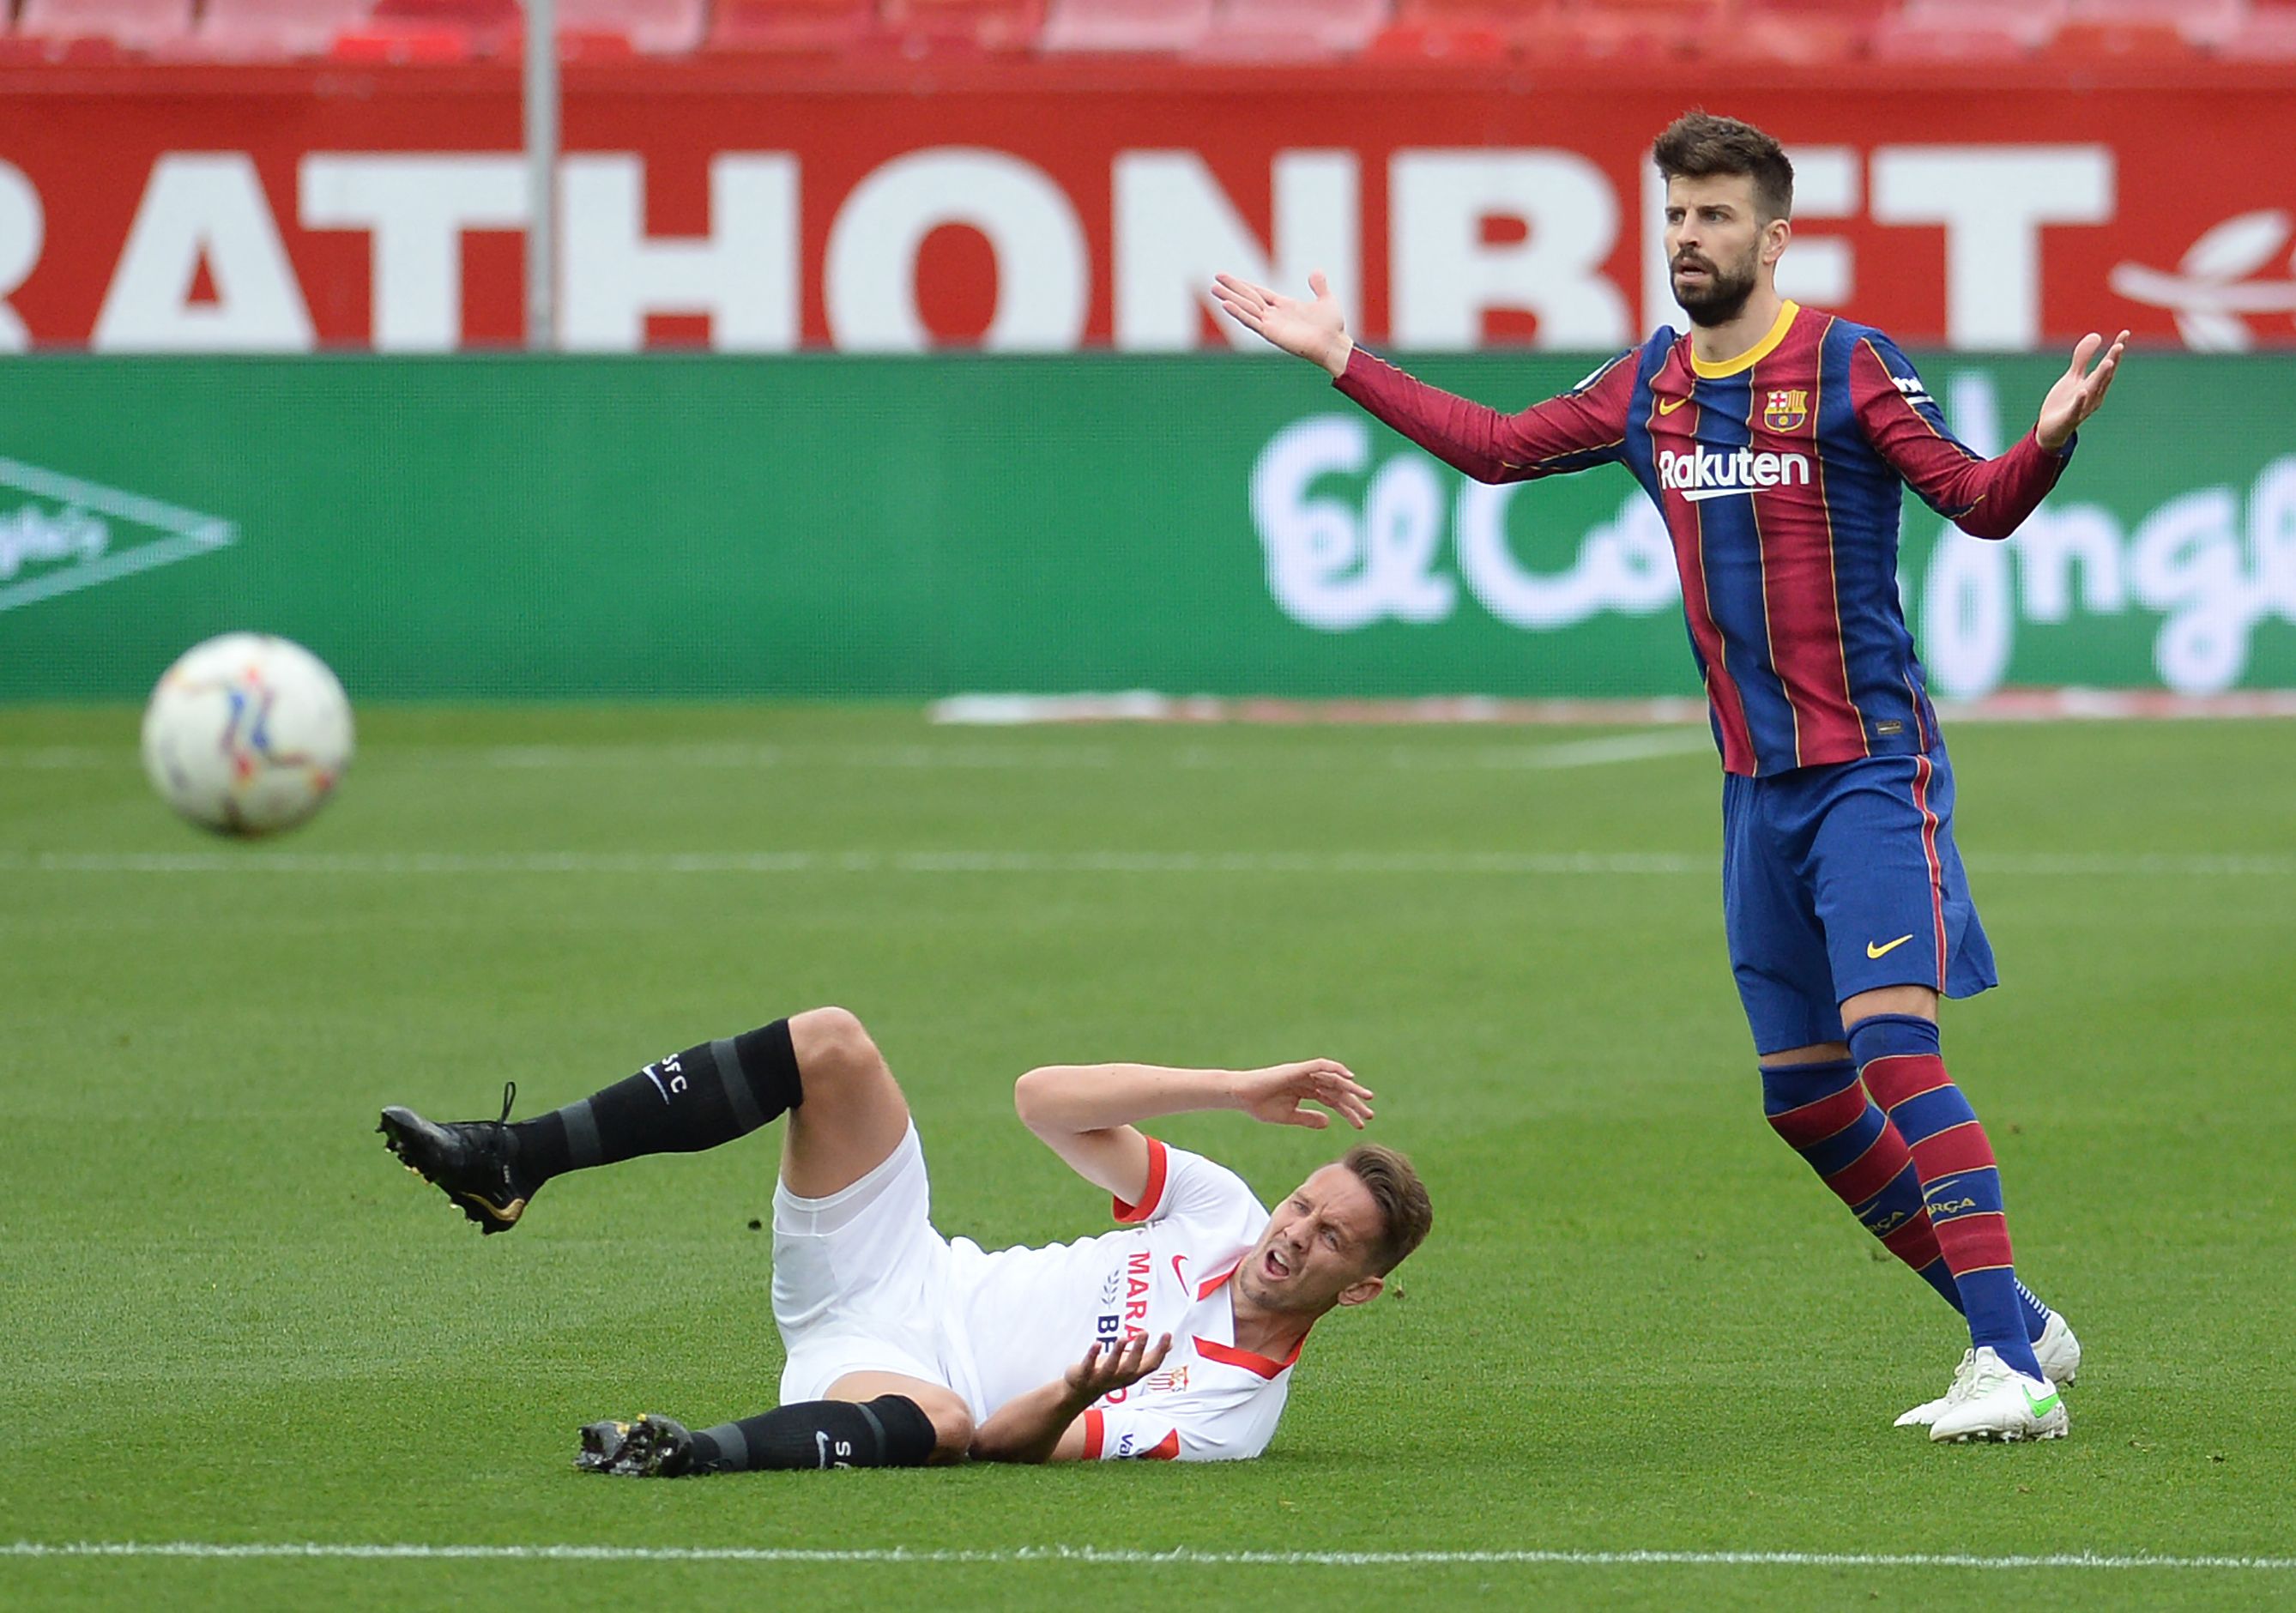
M 2128 333 L 2099 335 L 2032 431 L 1981 459 L 1880 330 L 1777 294 L 1793 165 L 1752 124 L 1676 119 L 1660 328 L 1518 415 L 1414 381 L 1336 298 L 1217 278 L 1228 314 L 1479 482 L 1623 463 L 1658 505 L 1722 748 L 1722 911 L 1777 1133 L 1970 1324 L 1938 1441 L 2057 1439 L 2080 1342 L 2016 1278 L 1993 1145 L 1945 1074 L 1938 998 L 1995 984 L 1954 849 L 1954 771 L 1896 594 L 1899 484 L 2009 537 L 2057 484 Z M 2096 360 L 2092 369 L 2092 360 Z

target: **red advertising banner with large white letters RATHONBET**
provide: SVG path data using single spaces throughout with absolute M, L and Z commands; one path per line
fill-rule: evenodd
M 1789 145 L 1784 289 L 1901 342 L 2296 344 L 2289 85 L 932 94 L 687 67 L 569 76 L 560 340 L 1171 351 L 1249 342 L 1205 312 L 1212 271 L 1325 268 L 1371 342 L 1616 349 L 1676 317 L 1646 149 L 1690 101 Z M 514 344 L 526 211 L 507 69 L 7 76 L 0 349 Z

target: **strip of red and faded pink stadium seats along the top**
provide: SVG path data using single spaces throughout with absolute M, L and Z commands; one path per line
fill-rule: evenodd
M 9 16 L 14 9 L 14 18 Z M 1192 62 L 1825 69 L 1880 62 L 2291 62 L 2296 0 L 558 0 L 560 53 L 1182 57 Z M 519 0 L 0 0 L 0 64 L 468 62 Z

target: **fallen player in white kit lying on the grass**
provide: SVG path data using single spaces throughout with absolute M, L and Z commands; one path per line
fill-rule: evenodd
M 409 1170 L 482 1232 L 551 1177 L 693 1154 L 785 1117 L 774 1189 L 781 1404 L 689 1429 L 664 1416 L 581 1429 L 585 1473 L 934 1462 L 1235 1462 L 1267 1450 L 1309 1328 L 1380 1294 L 1426 1239 L 1428 1193 L 1371 1143 L 1272 1214 L 1233 1170 L 1134 1122 L 1235 1108 L 1362 1129 L 1371 1090 L 1318 1058 L 1270 1069 L 1054 1065 L 1019 1078 L 1022 1122 L 1116 1198 L 1116 1232 L 983 1250 L 932 1225 L 925 1150 L 861 1021 L 817 1007 L 647 1065 L 579 1104 L 436 1124 L 386 1108 Z

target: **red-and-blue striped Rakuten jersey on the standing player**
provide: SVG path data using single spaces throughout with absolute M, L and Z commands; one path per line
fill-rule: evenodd
M 1871 326 L 1786 303 L 1706 363 L 1660 328 L 1518 415 L 1357 349 L 1339 390 L 1481 482 L 1623 463 L 1658 502 L 1722 766 L 1768 776 L 1926 753 L 1938 739 L 1896 594 L 1901 484 L 1975 537 L 2009 537 L 2071 445 L 2027 431 L 1984 459 Z

